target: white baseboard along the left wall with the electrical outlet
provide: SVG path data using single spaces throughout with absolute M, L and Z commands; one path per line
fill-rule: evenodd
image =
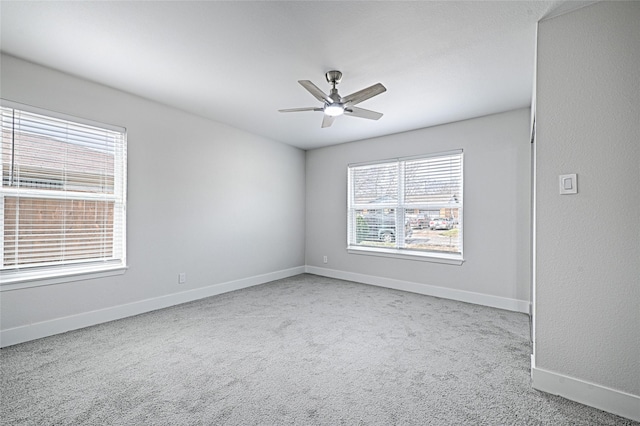
M 155 311 L 157 309 L 168 308 L 181 303 L 191 302 L 205 297 L 215 296 L 282 278 L 292 277 L 294 275 L 303 274 L 304 272 L 305 267 L 298 266 L 291 269 L 284 269 L 263 275 L 256 275 L 235 281 L 228 281 L 207 287 L 182 291 L 180 293 L 140 300 L 138 302 L 127 303 L 125 305 L 118 305 L 97 311 L 83 312 L 81 314 L 71 315 L 68 317 L 9 328 L 0 331 L 0 347 L 16 345 L 18 343 L 28 342 L 42 337 L 53 336 L 54 334 L 60 334 L 108 321 L 139 315 L 145 312 Z

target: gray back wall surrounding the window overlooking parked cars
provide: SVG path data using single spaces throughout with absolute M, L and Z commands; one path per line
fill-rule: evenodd
M 417 292 L 427 286 L 444 287 L 528 306 L 529 123 L 526 108 L 307 151 L 306 264 L 334 276 L 355 273 L 411 283 Z M 349 163 L 459 148 L 464 149 L 462 266 L 347 253 Z

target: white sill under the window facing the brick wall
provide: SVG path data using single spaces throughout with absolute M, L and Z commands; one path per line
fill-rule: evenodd
M 122 275 L 128 269 L 123 265 L 108 266 L 84 266 L 77 268 L 67 268 L 59 271 L 30 271 L 23 272 L 19 276 L 0 274 L 2 285 L 0 292 L 20 290 L 30 287 L 40 287 L 45 285 L 68 283 L 72 281 L 91 280 L 95 278 L 111 277 Z

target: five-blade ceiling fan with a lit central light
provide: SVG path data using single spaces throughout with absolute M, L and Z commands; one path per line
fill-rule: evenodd
M 329 71 L 325 74 L 327 83 L 331 84 L 331 92 L 326 95 L 322 90 L 309 80 L 298 80 L 298 83 L 302 85 L 314 98 L 323 103 L 322 107 L 307 107 L 307 108 L 291 108 L 281 109 L 280 112 L 299 112 L 299 111 L 322 111 L 324 112 L 324 118 L 322 119 L 322 127 L 329 127 L 333 124 L 336 117 L 340 115 L 350 115 L 352 117 L 367 118 L 369 120 L 378 120 L 382 117 L 382 114 L 375 111 L 370 111 L 364 108 L 357 108 L 354 105 L 359 104 L 362 101 L 366 101 L 380 93 L 386 92 L 387 88 L 382 84 L 377 83 L 366 89 L 359 90 L 348 96 L 342 97 L 338 94 L 336 86 L 342 80 L 342 73 L 340 71 Z

